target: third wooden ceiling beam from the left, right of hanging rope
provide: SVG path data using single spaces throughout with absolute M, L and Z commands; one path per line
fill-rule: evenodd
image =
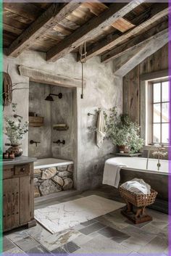
M 140 33 L 141 30 L 151 25 L 152 22 L 159 20 L 165 15 L 168 15 L 168 4 L 160 3 L 152 5 L 149 10 L 131 20 L 131 22 L 136 25 L 135 28 L 128 30 L 128 32 L 123 34 L 110 34 L 107 36 L 107 38 L 89 46 L 87 49 L 87 59 L 102 54 L 104 51 L 107 51 L 114 46 L 117 46 L 117 44 L 128 40 L 128 38 L 135 36 L 137 33 Z M 78 58 L 78 61 L 79 60 L 80 59 Z

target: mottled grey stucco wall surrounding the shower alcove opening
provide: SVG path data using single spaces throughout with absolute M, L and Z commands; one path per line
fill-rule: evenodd
M 4 70 L 9 63 L 9 74 L 12 81 L 25 81 L 28 78 L 22 77 L 17 73 L 17 65 L 25 65 L 36 69 L 67 75 L 74 78 L 81 78 L 81 65 L 75 61 L 74 54 L 68 54 L 57 62 L 46 62 L 46 54 L 36 51 L 25 51 L 16 59 L 4 57 Z M 101 185 L 104 160 L 111 157 L 114 147 L 109 141 L 104 141 L 99 149 L 95 144 L 95 133 L 89 133 L 88 126 L 96 123 L 96 117 L 88 117 L 88 112 L 101 107 L 107 110 L 114 105 L 122 112 L 122 78 L 114 77 L 112 62 L 102 64 L 99 57 L 89 59 L 85 65 L 86 88 L 84 90 L 84 99 L 80 99 L 80 88 L 72 91 L 73 118 L 71 131 L 73 136 L 73 148 L 70 152 L 72 160 L 75 162 L 75 184 L 77 189 L 89 189 Z M 54 88 L 54 86 L 53 86 Z M 25 92 L 14 91 L 14 102 L 18 103 L 19 115 L 23 115 L 28 120 L 28 90 Z M 23 107 L 24 106 L 24 107 Z M 9 113 L 9 107 L 5 110 Z M 70 136 L 70 135 L 68 135 Z M 24 154 L 28 154 L 28 138 L 22 141 Z M 69 150 L 70 151 L 70 150 Z M 55 150 L 52 149 L 54 154 Z M 66 150 L 66 158 L 69 152 Z M 63 154 L 62 150 L 57 150 L 55 154 Z M 65 158 L 65 156 L 64 156 Z

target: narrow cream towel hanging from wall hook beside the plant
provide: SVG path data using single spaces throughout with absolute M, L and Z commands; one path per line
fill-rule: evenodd
M 100 110 L 98 119 L 97 119 L 97 126 L 96 126 L 96 145 L 100 147 L 103 144 L 105 133 L 105 120 L 104 120 L 104 114 Z

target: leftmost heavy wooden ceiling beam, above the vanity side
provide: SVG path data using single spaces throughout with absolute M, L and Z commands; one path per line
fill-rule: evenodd
M 22 51 L 35 44 L 42 36 L 70 15 L 81 3 L 70 1 L 68 4 L 51 4 L 38 19 L 22 32 L 7 49 L 8 56 L 17 57 Z

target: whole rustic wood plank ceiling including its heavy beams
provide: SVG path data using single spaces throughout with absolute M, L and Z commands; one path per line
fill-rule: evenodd
M 4 3 L 4 49 L 17 57 L 25 49 L 46 52 L 56 61 L 79 52 L 86 41 L 88 59 L 108 62 L 151 38 L 167 33 L 166 3 Z M 79 54 L 78 54 L 79 61 Z

